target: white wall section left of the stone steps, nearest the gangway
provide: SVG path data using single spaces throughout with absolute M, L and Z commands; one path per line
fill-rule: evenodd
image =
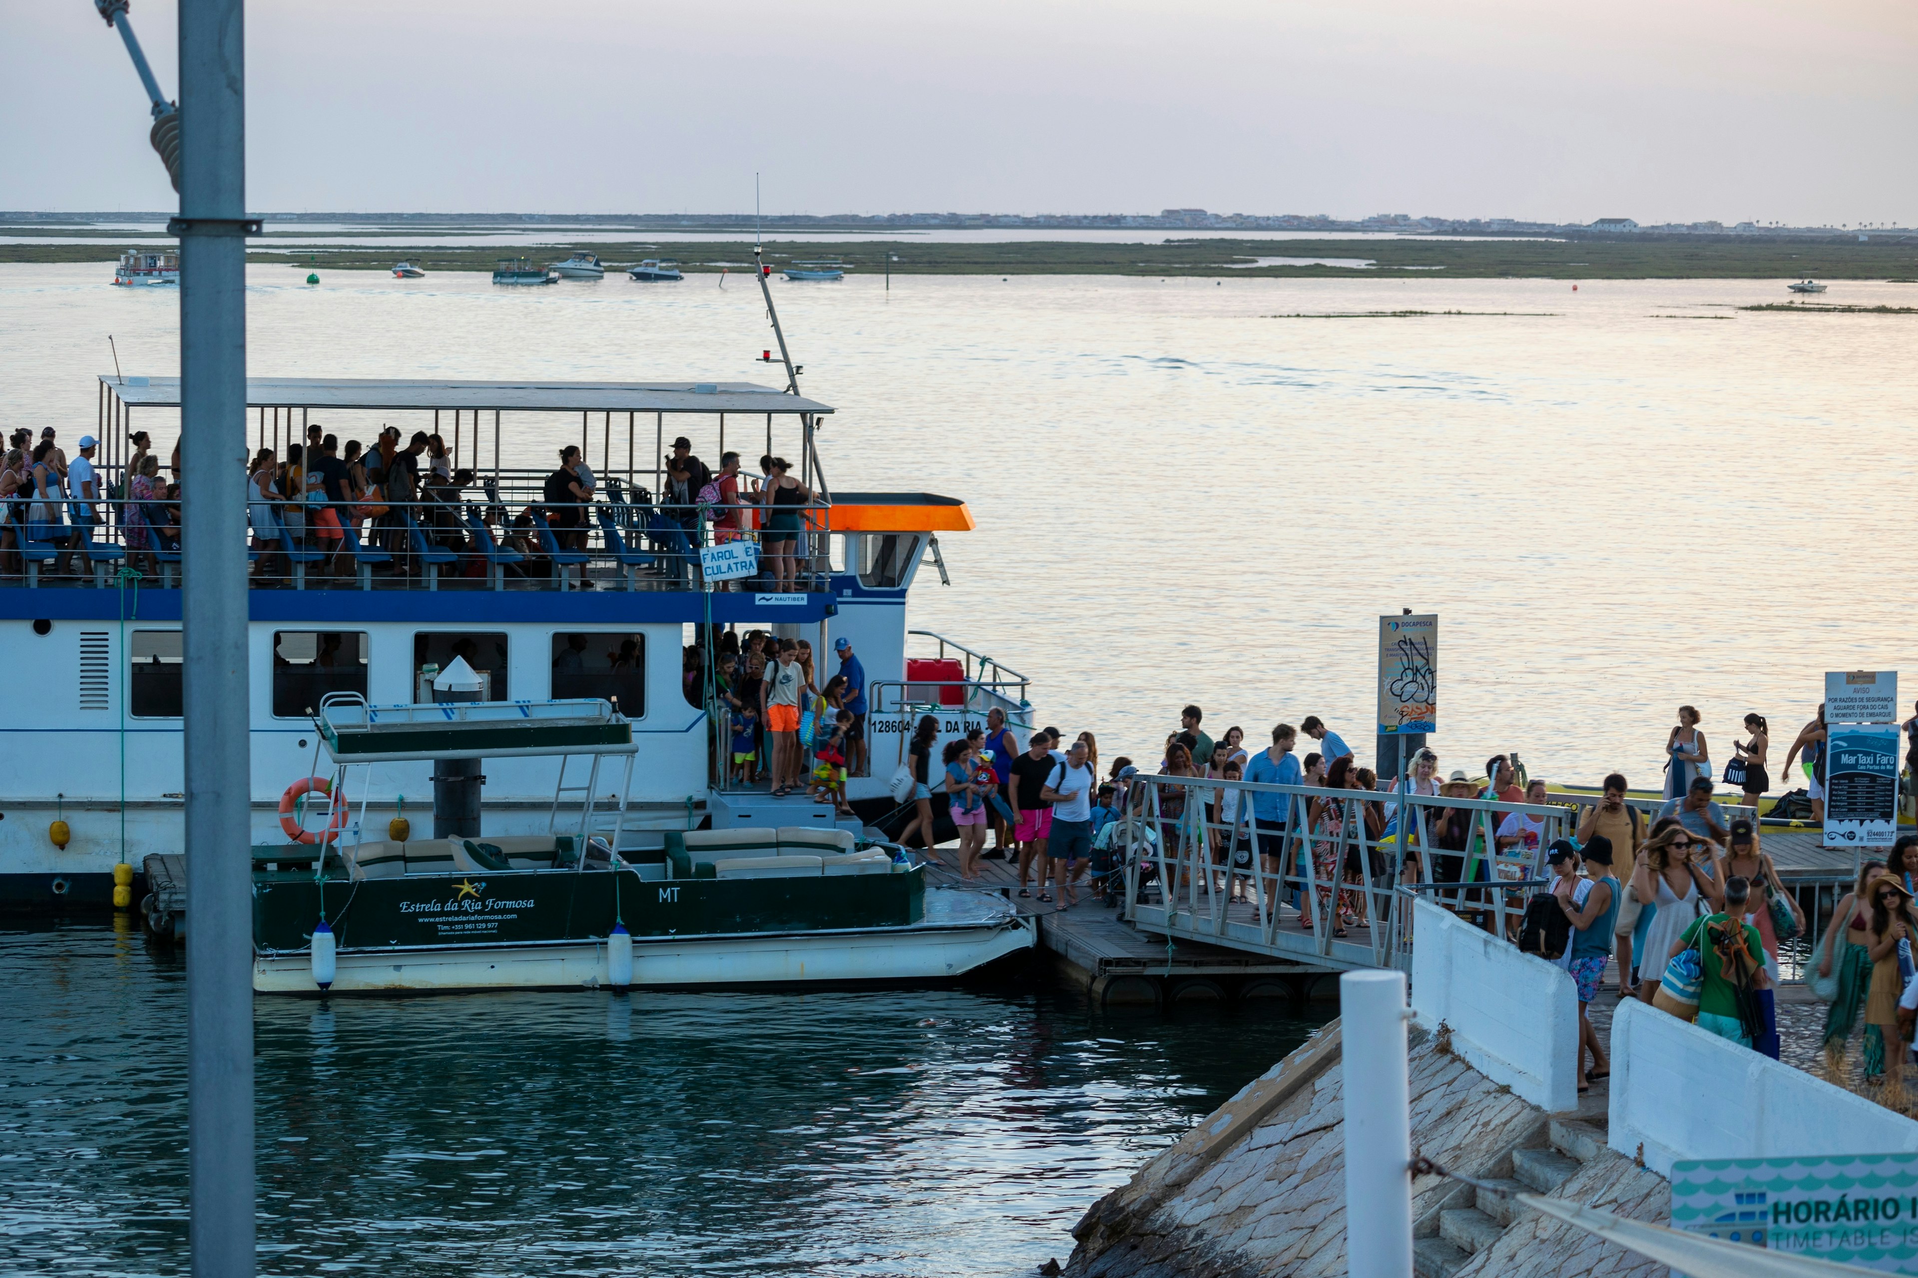
M 1579 1106 L 1579 987 L 1542 958 L 1419 901 L 1412 924 L 1412 1012 L 1452 1050 L 1540 1109 Z M 1617 1067 L 1613 1067 L 1617 1069 Z

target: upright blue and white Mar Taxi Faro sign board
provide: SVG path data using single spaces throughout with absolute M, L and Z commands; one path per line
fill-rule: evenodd
M 1826 673 L 1826 847 L 1889 847 L 1899 837 L 1897 717 L 1897 671 Z

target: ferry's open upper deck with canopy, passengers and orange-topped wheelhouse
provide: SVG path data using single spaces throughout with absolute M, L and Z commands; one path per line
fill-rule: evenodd
M 0 479 L 0 577 L 38 594 L 125 586 L 134 569 L 171 588 L 192 508 L 163 443 L 178 402 L 178 377 L 102 376 L 92 498 L 79 491 L 79 441 L 15 462 Z M 834 594 L 903 588 L 923 535 L 972 527 L 963 502 L 936 494 L 834 500 L 815 437 L 830 412 L 748 381 L 249 377 L 253 464 L 232 500 L 247 504 L 255 590 L 698 596 L 715 584 L 725 619 L 742 594 L 811 617 Z M 526 466 L 554 445 L 568 445 L 554 469 Z M 740 454 L 731 483 L 729 452 Z M 708 561 L 715 552 L 727 565 Z

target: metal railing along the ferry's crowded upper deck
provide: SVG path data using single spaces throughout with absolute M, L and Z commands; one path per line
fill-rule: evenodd
M 543 475 L 485 479 L 483 496 L 428 487 L 420 500 L 251 500 L 255 586 L 401 590 L 698 590 L 700 546 L 760 548 L 750 590 L 830 588 L 830 506 L 784 506 L 794 529 L 767 529 L 758 504 L 667 506 L 606 483 L 612 500 L 547 502 Z M 783 540 L 769 540 L 769 535 Z M 161 586 L 180 573 L 180 496 L 13 496 L 0 500 L 0 579 L 40 586 L 111 586 L 121 565 Z

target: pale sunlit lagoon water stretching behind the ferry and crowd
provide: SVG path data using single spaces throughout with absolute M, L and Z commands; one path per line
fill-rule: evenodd
M 171 289 L 107 278 L 0 266 L 8 423 L 90 427 L 107 333 L 127 370 L 176 370 Z M 773 379 L 750 280 L 301 278 L 253 268 L 257 374 Z M 1826 669 L 1918 667 L 1901 617 L 1918 316 L 1736 310 L 1784 301 L 1778 280 L 903 278 L 888 295 L 867 276 L 777 297 L 807 393 L 842 410 L 829 479 L 949 492 L 978 519 L 942 538 L 953 586 L 923 575 L 915 625 L 1032 674 L 1043 719 L 1107 755 L 1157 759 L 1185 701 L 1254 740 L 1316 713 L 1360 742 L 1375 617 L 1402 605 L 1442 619 L 1444 768 L 1517 749 L 1534 776 L 1655 784 L 1680 701 L 1726 759 L 1747 709 L 1789 740 Z M 1402 308 L 1525 314 L 1272 318 Z M 150 416 L 165 439 L 171 414 Z M 510 458 L 545 464 L 575 429 L 527 422 Z M 763 437 L 738 431 L 752 456 Z M 717 450 L 712 427 L 687 433 Z

